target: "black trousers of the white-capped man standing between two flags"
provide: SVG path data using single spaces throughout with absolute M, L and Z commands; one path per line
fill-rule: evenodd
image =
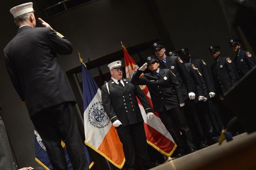
M 143 167 L 150 164 L 147 153 L 147 141 L 144 130 L 144 123 L 130 124 L 129 126 L 119 126 L 116 128 L 120 141 L 123 144 L 125 164 L 127 169 L 135 169 L 135 148 L 139 155 Z M 136 147 L 134 147 L 134 145 Z

